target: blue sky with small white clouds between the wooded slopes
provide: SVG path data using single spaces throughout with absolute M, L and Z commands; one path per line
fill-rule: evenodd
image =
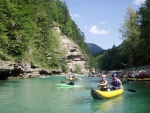
M 122 43 L 119 32 L 127 8 L 137 11 L 145 0 L 62 0 L 65 1 L 71 18 L 84 32 L 85 42 L 102 49 L 110 49 Z

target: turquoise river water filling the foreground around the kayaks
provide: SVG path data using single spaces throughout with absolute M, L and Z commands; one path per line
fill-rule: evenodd
M 60 89 L 64 76 L 0 81 L 0 113 L 149 113 L 150 81 L 125 83 L 117 97 L 94 100 L 90 91 L 100 78 L 83 77 L 83 87 Z M 109 80 L 110 81 L 110 80 Z M 136 90 L 130 92 L 128 89 Z

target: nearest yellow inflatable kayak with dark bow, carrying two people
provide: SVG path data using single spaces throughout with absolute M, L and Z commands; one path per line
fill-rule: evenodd
M 94 99 L 107 99 L 107 98 L 112 98 L 117 95 L 121 95 L 124 92 L 124 89 L 118 89 L 118 90 L 112 90 L 112 91 L 100 91 L 96 89 L 91 90 L 91 96 Z

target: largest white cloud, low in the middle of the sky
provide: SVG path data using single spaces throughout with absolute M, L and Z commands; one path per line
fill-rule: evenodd
M 109 31 L 97 29 L 97 26 L 92 26 L 89 30 L 93 34 L 106 35 Z

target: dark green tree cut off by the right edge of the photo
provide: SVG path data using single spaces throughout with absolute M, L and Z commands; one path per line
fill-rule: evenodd
M 145 4 L 139 10 L 140 16 L 140 43 L 139 56 L 142 59 L 142 64 L 150 63 L 150 0 L 146 0 Z

